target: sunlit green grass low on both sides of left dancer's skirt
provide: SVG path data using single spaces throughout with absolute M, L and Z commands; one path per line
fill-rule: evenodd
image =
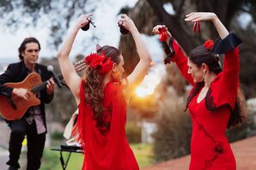
M 137 163 L 140 168 L 149 167 L 153 163 L 153 152 L 152 152 L 152 145 L 150 144 L 131 144 L 131 149 L 136 156 Z M 64 161 L 68 157 L 68 153 L 63 153 Z M 52 151 L 49 148 L 46 148 L 44 151 L 44 155 L 42 158 L 41 170 L 52 170 L 52 169 L 62 169 L 61 163 L 59 161 L 60 154 L 57 151 Z M 66 170 L 78 170 L 82 169 L 82 161 L 83 155 L 72 153 L 70 156 L 69 164 Z M 76 169 L 74 169 L 76 167 Z

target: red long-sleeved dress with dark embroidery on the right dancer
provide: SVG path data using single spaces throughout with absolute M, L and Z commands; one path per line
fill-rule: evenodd
M 181 74 L 194 86 L 192 76 L 187 74 L 187 58 L 180 46 L 173 43 L 172 59 Z M 225 136 L 230 112 L 235 107 L 238 90 L 239 52 L 235 48 L 224 57 L 223 70 L 211 82 L 208 93 L 199 103 L 196 94 L 188 108 L 192 118 L 192 141 L 190 170 L 234 170 L 235 157 Z M 193 89 L 192 89 L 193 90 Z

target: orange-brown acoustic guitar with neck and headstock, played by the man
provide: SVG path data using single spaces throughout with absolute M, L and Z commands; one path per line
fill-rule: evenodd
M 85 64 L 83 61 L 77 62 L 75 64 L 76 72 L 79 72 L 84 68 Z M 62 81 L 63 76 L 58 76 L 58 79 Z M 30 106 L 40 105 L 40 100 L 36 97 L 36 94 L 41 90 L 46 89 L 47 81 L 42 82 L 40 75 L 33 72 L 27 75 L 27 77 L 22 82 L 7 82 L 3 85 L 10 88 L 26 88 L 32 92 L 27 100 L 15 95 L 11 98 L 0 95 L 1 116 L 7 120 L 16 120 L 22 118 Z

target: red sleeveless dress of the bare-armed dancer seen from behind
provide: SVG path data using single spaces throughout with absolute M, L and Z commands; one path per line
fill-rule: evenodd
M 85 102 L 84 82 L 76 130 L 84 150 L 83 170 L 138 170 L 137 161 L 125 137 L 126 103 L 120 82 L 108 82 L 104 89 L 105 121 L 110 130 L 96 127 L 93 112 Z M 104 131 L 104 133 L 102 133 Z

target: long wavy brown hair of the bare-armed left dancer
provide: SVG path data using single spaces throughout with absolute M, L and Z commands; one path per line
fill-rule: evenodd
M 105 54 L 107 58 L 111 58 L 113 63 L 119 64 L 120 63 L 120 52 L 117 48 L 113 46 L 102 46 L 101 48 L 97 49 L 97 54 L 101 55 L 101 53 Z M 101 66 L 94 69 L 91 66 L 88 66 L 85 71 L 85 99 L 86 102 L 91 106 L 94 112 L 94 118 L 97 123 L 97 127 L 104 133 L 108 131 L 110 126 L 109 124 L 105 124 L 104 122 L 104 107 L 103 107 L 103 79 L 104 75 L 99 73 Z M 107 126 L 107 127 L 106 127 Z

